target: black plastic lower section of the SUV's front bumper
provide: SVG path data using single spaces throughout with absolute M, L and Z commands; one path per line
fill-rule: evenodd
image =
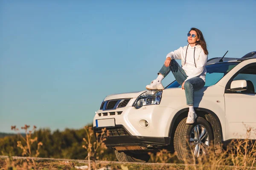
M 93 127 L 94 134 L 101 133 L 102 127 Z M 148 147 L 168 145 L 171 142 L 170 137 L 147 137 L 147 136 L 132 136 L 123 125 L 116 125 L 115 127 L 106 127 L 108 130 L 103 136 L 106 137 L 105 144 L 107 147 L 120 146 L 140 146 Z M 100 136 L 98 136 L 98 139 Z

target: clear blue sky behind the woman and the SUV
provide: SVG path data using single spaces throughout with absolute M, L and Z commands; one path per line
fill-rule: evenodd
M 0 131 L 82 128 L 105 96 L 145 90 L 191 27 L 203 32 L 208 58 L 256 51 L 255 7 L 256 0 L 1 0 Z

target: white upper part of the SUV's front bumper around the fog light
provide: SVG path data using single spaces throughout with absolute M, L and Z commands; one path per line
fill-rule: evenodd
M 136 109 L 131 106 L 134 101 L 135 99 L 131 99 L 125 108 L 97 111 L 93 119 L 93 127 L 97 126 L 96 120 L 114 118 L 115 125 L 123 125 L 132 136 L 169 137 L 169 128 L 177 111 L 160 105 L 148 105 Z M 146 120 L 148 126 L 142 127 L 140 120 Z

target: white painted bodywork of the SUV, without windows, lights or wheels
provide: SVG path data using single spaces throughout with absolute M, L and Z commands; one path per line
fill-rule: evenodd
M 238 62 L 237 60 L 227 62 Z M 225 94 L 227 83 L 241 68 L 250 64 L 256 63 L 256 59 L 247 59 L 240 62 L 232 68 L 222 79 L 215 85 L 204 87 L 195 91 L 194 107 L 203 108 L 215 113 L 219 119 L 222 140 L 228 139 L 243 139 L 246 129 L 242 127 L 243 122 L 251 127 L 256 128 L 256 109 L 253 104 L 256 103 L 256 96 L 243 94 Z M 98 110 L 93 119 L 93 127 L 96 127 L 96 119 L 114 118 L 115 125 L 123 125 L 132 136 L 145 137 L 161 137 L 169 136 L 169 131 L 175 114 L 179 113 L 188 106 L 186 105 L 186 96 L 181 88 L 166 88 L 162 92 L 162 97 L 159 105 L 145 105 L 136 109 L 133 104 L 137 97 L 145 91 L 137 91 L 125 94 L 113 94 L 107 96 L 104 101 L 114 99 L 127 99 L 126 107 L 117 108 L 114 110 Z M 121 114 L 110 115 L 110 112 Z M 99 113 L 105 113 L 107 116 L 99 116 Z M 245 114 L 246 113 L 246 114 Z M 140 120 L 148 122 L 147 127 L 140 125 Z M 236 134 L 235 134 L 236 133 Z M 251 136 L 256 139 L 256 136 Z

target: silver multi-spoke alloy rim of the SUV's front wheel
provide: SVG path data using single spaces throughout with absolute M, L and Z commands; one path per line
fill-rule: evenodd
M 203 125 L 195 125 L 190 133 L 189 144 L 195 157 L 205 155 L 209 148 L 209 134 Z

